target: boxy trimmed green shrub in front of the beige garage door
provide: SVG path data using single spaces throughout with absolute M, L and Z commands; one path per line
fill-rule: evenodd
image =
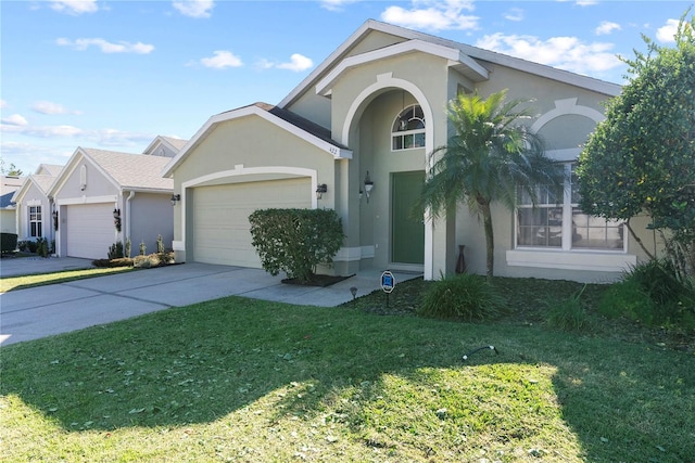
M 273 275 L 309 281 L 316 266 L 330 266 L 343 242 L 340 217 L 332 209 L 260 209 L 249 216 L 252 244 Z

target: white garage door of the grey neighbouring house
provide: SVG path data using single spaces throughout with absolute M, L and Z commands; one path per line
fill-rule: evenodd
M 105 259 L 115 243 L 113 203 L 78 204 L 66 207 L 66 256 L 85 259 Z

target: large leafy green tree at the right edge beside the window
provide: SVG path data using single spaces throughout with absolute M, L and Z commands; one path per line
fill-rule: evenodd
M 635 237 L 629 220 L 647 213 L 649 228 L 669 231 L 662 235 L 669 236 L 666 245 L 675 252 L 675 263 L 693 272 L 695 17 L 687 22 L 688 11 L 681 17 L 674 47 L 660 47 L 643 36 L 648 52 L 635 51 L 634 60 L 623 60 L 630 80 L 622 94 L 608 102 L 606 119 L 586 143 L 577 172 L 584 211 L 627 220 Z

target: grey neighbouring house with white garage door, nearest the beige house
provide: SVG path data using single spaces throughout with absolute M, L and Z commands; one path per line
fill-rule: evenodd
M 157 235 L 169 243 L 174 182 L 161 176 L 169 160 L 78 147 L 48 191 L 60 218 L 58 255 L 106 258 L 114 243 L 128 237 L 131 255 L 140 243 L 148 254 L 156 252 Z

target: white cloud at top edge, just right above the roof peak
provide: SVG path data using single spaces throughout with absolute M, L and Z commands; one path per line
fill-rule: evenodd
M 477 29 L 479 17 L 463 13 L 473 9 L 473 2 L 467 0 L 414 0 L 409 10 L 387 8 L 381 13 L 381 20 L 415 29 Z

